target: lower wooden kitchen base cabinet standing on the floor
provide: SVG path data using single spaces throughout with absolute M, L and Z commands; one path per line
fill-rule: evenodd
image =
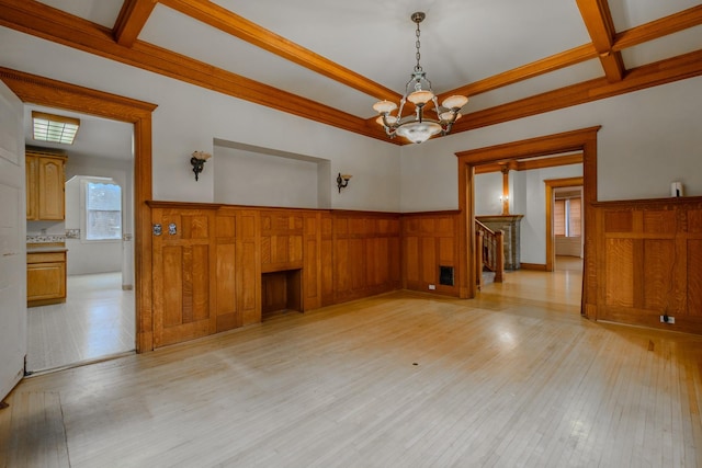
M 66 301 L 66 250 L 26 254 L 27 307 Z

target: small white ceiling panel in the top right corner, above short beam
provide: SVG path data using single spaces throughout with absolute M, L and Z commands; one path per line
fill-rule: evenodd
M 698 0 L 609 0 L 618 32 L 700 5 Z

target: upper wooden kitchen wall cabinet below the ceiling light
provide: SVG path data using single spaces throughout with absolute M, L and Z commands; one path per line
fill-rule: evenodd
M 66 157 L 27 150 L 26 219 L 63 220 L 65 207 Z

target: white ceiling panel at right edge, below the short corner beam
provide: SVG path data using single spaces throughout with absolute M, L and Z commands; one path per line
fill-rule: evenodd
M 622 50 L 627 69 L 702 49 L 702 26 L 690 27 L 669 36 Z

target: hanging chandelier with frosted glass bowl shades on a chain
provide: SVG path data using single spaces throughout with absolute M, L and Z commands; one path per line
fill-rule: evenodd
M 411 78 L 405 84 L 405 95 L 399 102 L 399 110 L 396 115 L 390 115 L 397 109 L 397 104 L 390 101 L 380 101 L 373 105 L 373 109 L 381 114 L 376 122 L 385 128 L 385 133 L 395 138 L 396 135 L 407 138 L 412 142 L 427 141 L 432 136 L 441 133 L 446 135 L 451 132 L 453 124 L 461 118 L 461 107 L 463 107 L 468 99 L 464 95 L 451 95 L 446 98 L 439 106 L 437 95 L 431 90 L 431 81 L 427 79 L 427 72 L 419 65 L 419 23 L 424 19 L 424 13 L 418 11 L 412 13 L 411 20 L 417 24 L 417 65 L 411 73 Z M 405 103 L 409 101 L 415 104 L 415 113 L 403 116 Z M 433 112 L 435 117 L 424 115 L 424 106 L 429 102 L 433 103 Z

